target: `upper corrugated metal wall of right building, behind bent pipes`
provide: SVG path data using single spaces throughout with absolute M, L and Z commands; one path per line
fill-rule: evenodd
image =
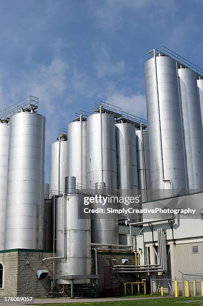
M 196 209 L 194 215 L 177 214 L 174 223 L 174 238 L 192 238 L 203 236 L 203 214 L 200 211 L 203 210 L 203 192 L 188 194 L 184 196 L 177 196 L 173 198 L 161 199 L 153 202 L 143 203 L 143 208 L 156 208 L 161 207 L 166 209 L 170 208 L 182 208 L 182 209 Z M 170 214 L 154 213 L 143 214 L 143 221 L 150 221 L 153 219 L 161 219 L 169 217 Z M 167 228 L 167 240 L 172 239 L 172 230 L 169 223 L 153 224 L 154 239 L 157 240 L 157 229 Z M 144 225 L 144 240 L 145 242 L 152 241 L 152 231 L 148 225 Z

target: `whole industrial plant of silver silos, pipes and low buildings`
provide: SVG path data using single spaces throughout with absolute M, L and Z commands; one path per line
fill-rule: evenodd
M 0 296 L 175 294 L 176 280 L 202 294 L 203 70 L 150 54 L 147 120 L 103 101 L 77 111 L 49 183 L 38 98 L 0 112 Z

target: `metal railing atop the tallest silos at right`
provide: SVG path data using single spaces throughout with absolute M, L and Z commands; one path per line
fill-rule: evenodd
M 153 55 L 153 50 L 150 50 L 149 53 Z M 156 56 L 159 56 L 160 54 L 165 56 L 170 56 L 171 58 L 175 59 L 178 62 L 179 67 L 182 65 L 183 67 L 190 68 L 197 73 L 198 77 L 203 78 L 203 69 L 201 67 L 192 63 L 191 61 L 181 56 L 180 54 L 176 53 L 175 51 L 169 49 L 165 45 L 156 48 L 155 53 Z

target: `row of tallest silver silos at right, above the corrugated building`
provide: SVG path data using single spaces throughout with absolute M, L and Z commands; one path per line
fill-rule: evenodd
M 203 190 L 202 80 L 154 52 L 145 83 L 154 198 Z

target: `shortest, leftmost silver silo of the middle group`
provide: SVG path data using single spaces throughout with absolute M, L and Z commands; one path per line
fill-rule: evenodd
M 67 141 L 59 135 L 58 141 L 50 145 L 50 182 L 49 191 L 64 192 L 67 176 Z

